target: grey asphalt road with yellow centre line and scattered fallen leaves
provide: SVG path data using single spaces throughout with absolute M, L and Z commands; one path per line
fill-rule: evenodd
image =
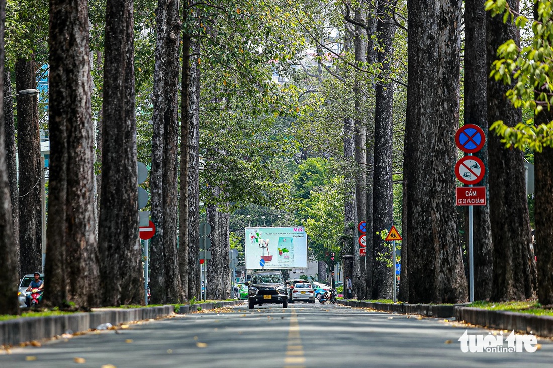
M 130 324 L 126 329 L 0 351 L 1 368 L 552 367 L 535 353 L 462 353 L 464 325 L 439 319 L 296 303 L 247 304 Z M 469 334 L 488 330 L 468 328 Z M 506 335 L 505 335 L 506 336 Z M 507 344 L 505 343 L 505 346 Z

